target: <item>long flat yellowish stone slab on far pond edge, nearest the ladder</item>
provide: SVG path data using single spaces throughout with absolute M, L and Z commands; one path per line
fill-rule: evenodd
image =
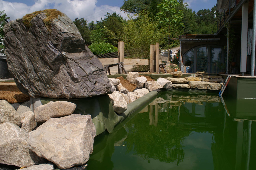
M 211 83 L 211 82 L 188 82 L 191 88 L 198 89 L 209 89 L 209 90 L 220 90 L 223 84 L 221 83 Z

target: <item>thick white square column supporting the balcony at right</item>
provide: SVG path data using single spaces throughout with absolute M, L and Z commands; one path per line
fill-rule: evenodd
M 248 37 L 248 3 L 242 7 L 242 38 L 241 38 L 241 68 L 240 72 L 244 75 L 247 63 L 247 37 Z

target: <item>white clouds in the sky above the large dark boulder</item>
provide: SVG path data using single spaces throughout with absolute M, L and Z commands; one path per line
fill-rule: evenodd
M 49 8 L 54 8 L 65 13 L 72 21 L 77 17 L 87 19 L 88 22 L 100 20 L 101 17 L 104 18 L 107 12 L 116 12 L 124 18 L 126 17 L 120 11 L 120 7 L 108 5 L 96 6 L 96 3 L 97 0 L 35 0 L 34 5 L 28 6 L 24 3 L 10 3 L 0 0 L 0 9 L 5 10 L 10 20 L 22 18 L 26 14 Z

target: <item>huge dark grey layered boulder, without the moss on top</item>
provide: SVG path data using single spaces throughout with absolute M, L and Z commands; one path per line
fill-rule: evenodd
M 56 10 L 57 11 L 57 10 Z M 102 63 L 86 47 L 65 15 L 46 26 L 47 10 L 29 22 L 4 27 L 8 69 L 19 89 L 31 97 L 82 98 L 112 93 Z

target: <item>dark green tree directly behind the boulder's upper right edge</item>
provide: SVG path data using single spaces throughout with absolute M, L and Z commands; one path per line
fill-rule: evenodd
M 76 18 L 74 24 L 77 26 L 86 44 L 91 44 L 90 31 L 87 25 L 87 20 L 84 18 Z

